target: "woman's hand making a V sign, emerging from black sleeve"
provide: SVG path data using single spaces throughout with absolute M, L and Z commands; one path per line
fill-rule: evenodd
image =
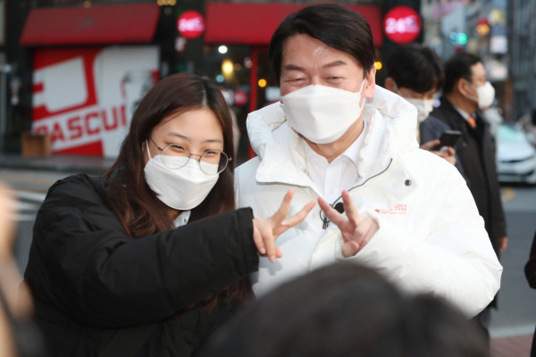
M 290 210 L 290 201 L 294 191 L 289 189 L 287 194 L 283 198 L 280 208 L 273 213 L 270 218 L 255 218 L 253 219 L 253 240 L 257 247 L 257 250 L 261 255 L 267 255 L 270 262 L 275 262 L 276 259 L 281 258 L 283 253 L 274 245 L 275 240 L 287 229 L 296 226 L 302 220 L 306 219 L 306 216 L 314 207 L 314 201 L 307 203 L 300 212 L 287 218 Z

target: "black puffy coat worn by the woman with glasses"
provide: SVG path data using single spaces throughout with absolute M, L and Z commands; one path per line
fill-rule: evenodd
M 189 356 L 237 308 L 187 310 L 257 270 L 250 209 L 130 238 L 101 178 L 50 187 L 25 279 L 54 356 Z

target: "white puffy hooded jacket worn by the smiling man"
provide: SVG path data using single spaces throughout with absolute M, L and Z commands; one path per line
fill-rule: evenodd
M 415 107 L 400 96 L 376 87 L 364 120 L 357 161 L 362 179 L 349 193 L 358 212 L 377 220 L 380 229 L 354 257 L 343 258 L 339 228 L 322 228 L 317 203 L 306 220 L 278 238 L 283 257 L 275 263 L 261 259 L 252 276 L 255 294 L 349 259 L 375 267 L 405 291 L 440 295 L 467 316 L 476 315 L 497 293 L 502 267 L 465 180 L 453 165 L 418 148 Z M 247 132 L 257 156 L 236 171 L 239 207 L 269 217 L 293 188 L 294 214 L 321 195 L 306 175 L 303 139 L 285 122 L 280 103 L 250 113 Z

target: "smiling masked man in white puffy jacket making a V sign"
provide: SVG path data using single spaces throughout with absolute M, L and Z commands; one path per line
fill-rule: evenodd
M 375 85 L 374 51 L 364 17 L 339 4 L 292 13 L 272 36 L 281 102 L 247 118 L 257 156 L 237 170 L 237 203 L 263 216 L 293 188 L 290 214 L 319 205 L 281 234 L 277 263 L 261 258 L 255 295 L 348 260 L 474 316 L 502 267 L 465 180 L 419 149 L 415 106 Z

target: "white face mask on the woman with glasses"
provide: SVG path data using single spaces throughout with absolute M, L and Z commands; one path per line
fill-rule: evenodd
M 147 144 L 147 143 L 146 143 Z M 220 177 L 219 174 L 209 175 L 199 168 L 199 162 L 188 160 L 186 165 L 177 170 L 168 169 L 157 154 L 151 158 L 147 144 L 149 161 L 145 166 L 147 185 L 157 197 L 175 210 L 191 210 L 205 200 Z M 214 172 L 218 165 L 214 165 Z

